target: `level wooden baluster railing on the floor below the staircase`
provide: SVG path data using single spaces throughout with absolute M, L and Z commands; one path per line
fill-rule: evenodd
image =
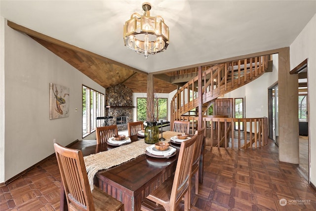
M 197 130 L 198 117 L 180 117 L 190 121 L 190 134 Z M 257 149 L 268 144 L 268 118 L 203 117 L 206 146 L 231 149 Z

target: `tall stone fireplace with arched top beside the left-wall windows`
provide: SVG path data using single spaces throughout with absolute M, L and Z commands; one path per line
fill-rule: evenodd
M 106 116 L 113 117 L 113 124 L 118 130 L 126 130 L 127 123 L 133 121 L 133 92 L 124 84 L 106 88 Z

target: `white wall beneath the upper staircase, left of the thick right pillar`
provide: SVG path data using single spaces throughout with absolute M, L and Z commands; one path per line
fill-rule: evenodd
M 244 98 L 245 118 L 268 117 L 268 87 L 277 81 L 278 58 L 273 55 L 273 71 L 264 73 L 258 79 L 243 85 L 224 98 Z

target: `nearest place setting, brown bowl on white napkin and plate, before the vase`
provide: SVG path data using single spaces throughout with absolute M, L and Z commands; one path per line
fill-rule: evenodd
M 145 154 L 154 158 L 170 158 L 176 154 L 176 148 L 167 142 L 158 142 L 146 147 Z

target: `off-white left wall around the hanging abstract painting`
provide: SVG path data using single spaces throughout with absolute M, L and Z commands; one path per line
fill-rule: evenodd
M 1 21 L 1 33 L 3 29 L 5 134 L 4 139 L 0 136 L 0 146 L 5 149 L 0 152 L 5 155 L 0 182 L 53 154 L 53 139 L 62 145 L 82 139 L 82 84 L 105 93 L 105 88 L 30 37 L 9 28 L 6 21 Z M 49 83 L 69 87 L 69 117 L 49 120 Z M 1 116 L 1 126 L 2 121 Z

